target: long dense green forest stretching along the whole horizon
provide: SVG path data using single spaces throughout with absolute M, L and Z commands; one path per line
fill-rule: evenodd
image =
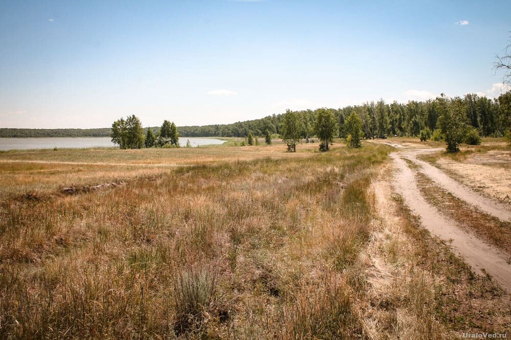
M 338 120 L 339 136 L 343 136 L 345 119 L 356 112 L 363 122 L 365 138 L 381 136 L 419 136 L 423 128 L 437 128 L 437 119 L 441 114 L 442 100 L 445 97 L 426 101 L 408 101 L 387 103 L 384 100 L 366 102 L 358 106 L 341 109 L 327 109 Z M 467 94 L 462 98 L 451 98 L 461 102 L 468 122 L 484 137 L 502 137 L 509 126 L 511 117 L 511 91 L 492 100 L 477 94 Z M 316 110 L 317 111 L 317 110 Z M 316 111 L 305 110 L 297 113 L 302 118 L 303 138 L 313 136 Z M 247 120 L 232 124 L 203 126 L 179 126 L 181 137 L 245 137 L 251 132 L 254 136 L 270 133 L 280 134 L 283 115 L 271 115 L 262 119 Z M 158 127 L 152 127 L 155 132 Z M 110 128 L 96 129 L 15 129 L 0 128 L 0 137 L 107 137 Z

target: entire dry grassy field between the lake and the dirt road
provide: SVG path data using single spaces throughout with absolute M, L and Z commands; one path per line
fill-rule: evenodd
M 434 241 L 391 192 L 384 205 L 399 221 L 382 218 L 374 183 L 388 178 L 391 150 L 336 143 L 327 153 L 317 144 L 297 153 L 283 145 L 2 152 L 0 338 L 390 339 L 494 330 L 467 312 L 470 299 L 501 295 L 491 280 Z M 125 184 L 61 192 L 106 182 Z M 375 268 L 385 268 L 386 283 Z M 456 299 L 461 307 L 447 307 Z M 497 320 L 504 309 L 492 303 L 480 310 Z

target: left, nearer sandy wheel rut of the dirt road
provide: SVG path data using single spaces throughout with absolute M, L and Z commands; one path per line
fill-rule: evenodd
M 442 216 L 421 195 L 413 171 L 399 153 L 392 153 L 392 159 L 399 174 L 394 181 L 396 191 L 403 196 L 412 212 L 421 217 L 425 228 L 436 236 L 452 241 L 453 250 L 464 258 L 473 269 L 490 274 L 507 292 L 511 293 L 511 265 L 506 263 L 507 255 L 495 247 L 485 244 L 474 234 L 460 229 L 456 221 Z

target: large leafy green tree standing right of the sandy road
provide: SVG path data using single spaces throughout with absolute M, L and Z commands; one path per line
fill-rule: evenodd
M 438 98 L 437 98 L 438 99 Z M 456 98 L 449 102 L 447 98 L 440 99 L 441 106 L 444 108 L 443 114 L 438 117 L 440 131 L 445 137 L 448 152 L 459 151 L 459 144 L 467 136 L 468 119 L 464 112 L 461 99 Z

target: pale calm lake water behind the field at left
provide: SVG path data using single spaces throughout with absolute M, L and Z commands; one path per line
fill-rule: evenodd
M 225 141 L 213 138 L 180 137 L 179 144 L 187 145 L 187 139 L 193 147 L 199 145 L 223 144 Z M 113 147 L 110 137 L 76 137 L 76 138 L 0 138 L 0 150 L 57 149 Z

